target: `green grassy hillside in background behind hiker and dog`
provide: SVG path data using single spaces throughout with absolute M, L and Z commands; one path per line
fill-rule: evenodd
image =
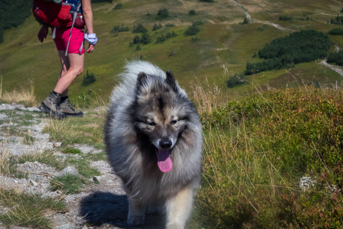
M 118 1 L 119 2 L 119 1 Z M 70 96 L 77 99 L 80 92 L 88 92 L 88 87 L 81 86 L 86 70 L 93 72 L 97 81 L 89 86 L 94 92 L 107 95 L 115 84 L 115 76 L 121 71 L 125 60 L 143 56 L 144 60 L 159 65 L 163 70 L 174 72 L 179 83 L 186 89 L 196 78 L 204 82 L 206 77 L 209 83 L 225 85 L 223 82 L 223 65 L 226 77 L 234 73 L 243 72 L 246 61 L 251 63 L 262 61 L 252 58 L 266 43 L 271 40 L 288 35 L 292 30 L 316 29 L 327 33 L 330 28 L 343 28 L 341 25 L 331 25 L 326 22 L 339 12 L 341 5 L 334 1 L 234 1 L 217 0 L 214 3 L 199 2 L 195 0 L 149 0 L 149 1 L 121 1 L 122 8 L 114 10 L 113 3 L 92 4 L 94 13 L 94 28 L 99 38 L 95 51 L 85 55 L 85 71 L 71 85 Z M 155 20 L 155 15 L 161 8 L 169 10 L 169 17 L 164 20 Z M 197 15 L 188 15 L 194 9 Z M 239 25 L 248 12 L 252 23 Z M 292 22 L 277 21 L 280 15 L 289 14 L 294 18 L 309 16 L 313 21 L 294 19 Z M 194 36 L 185 36 L 184 31 L 194 21 L 202 21 L 200 33 Z M 287 29 L 281 30 L 264 23 L 280 24 Z M 151 37 L 151 43 L 141 45 L 141 51 L 136 46 L 129 47 L 135 34 L 131 31 L 134 25 L 143 24 Z M 152 31 L 155 23 L 163 27 Z M 118 36 L 111 34 L 116 25 L 128 26 L 129 32 L 120 32 Z M 165 24 L 174 24 L 166 28 Z M 3 89 L 19 89 L 34 80 L 36 96 L 44 99 L 52 91 L 57 82 L 60 62 L 51 32 L 43 44 L 39 43 L 37 33 L 39 24 L 33 16 L 28 17 L 25 23 L 17 28 L 4 31 L 4 43 L 0 44 L 0 74 L 3 78 Z M 157 37 L 169 31 L 178 36 L 167 39 L 164 43 L 155 44 Z M 191 39 L 197 37 L 196 42 Z M 342 35 L 330 35 L 330 39 L 343 46 Z M 330 51 L 333 51 L 334 47 Z M 174 51 L 175 56 L 170 56 Z M 318 68 L 317 72 L 316 69 Z M 318 81 L 325 82 L 339 79 L 339 74 L 327 67 L 317 66 L 315 62 L 297 64 L 291 70 L 294 74 L 302 74 L 304 79 L 312 77 L 316 72 Z M 288 82 L 284 79 L 285 69 L 259 73 L 249 76 L 248 80 L 259 79 L 260 85 L 269 84 L 278 87 Z M 289 74 L 288 74 L 289 75 Z M 224 75 L 225 78 L 225 75 Z M 286 77 L 287 78 L 287 77 Z M 254 79 L 254 80 L 255 80 Z M 268 81 L 267 81 L 268 80 Z M 223 88 L 225 90 L 225 87 Z M 243 87 L 235 87 L 227 92 L 237 97 L 246 92 Z M 92 96 L 92 94 L 90 94 Z

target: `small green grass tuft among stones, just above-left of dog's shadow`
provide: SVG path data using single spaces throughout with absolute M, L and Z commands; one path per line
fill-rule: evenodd
M 62 177 L 54 177 L 50 180 L 50 190 L 61 190 L 65 194 L 80 193 L 85 184 L 91 182 L 79 176 L 67 174 Z

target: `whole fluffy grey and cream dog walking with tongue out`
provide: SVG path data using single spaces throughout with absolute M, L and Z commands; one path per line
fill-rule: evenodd
M 185 227 L 199 188 L 199 115 L 171 71 L 132 61 L 110 97 L 105 145 L 129 199 L 128 225 L 144 222 L 145 208 L 163 206 L 166 228 Z

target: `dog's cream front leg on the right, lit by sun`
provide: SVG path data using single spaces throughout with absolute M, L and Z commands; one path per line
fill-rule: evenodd
M 166 229 L 184 229 L 192 213 L 192 207 L 193 191 L 190 188 L 182 190 L 175 197 L 167 200 L 165 204 Z

